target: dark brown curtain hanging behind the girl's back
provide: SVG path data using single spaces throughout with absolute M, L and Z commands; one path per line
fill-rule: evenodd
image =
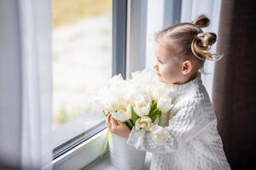
M 222 0 L 212 104 L 232 169 L 256 169 L 256 1 Z

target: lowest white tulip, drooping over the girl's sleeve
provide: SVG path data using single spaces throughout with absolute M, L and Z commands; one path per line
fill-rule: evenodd
M 154 125 L 150 132 L 151 138 L 158 145 L 163 144 L 166 139 L 166 136 L 168 135 L 168 131 L 164 127 L 160 127 L 159 125 Z

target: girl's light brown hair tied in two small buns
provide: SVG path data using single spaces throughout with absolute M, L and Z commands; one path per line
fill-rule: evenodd
M 209 52 L 217 39 L 215 33 L 201 30 L 209 25 L 210 20 L 205 14 L 201 14 L 191 23 L 179 23 L 158 32 L 155 40 L 163 42 L 175 56 L 195 56 L 203 65 L 206 59 L 217 61 L 223 57 Z

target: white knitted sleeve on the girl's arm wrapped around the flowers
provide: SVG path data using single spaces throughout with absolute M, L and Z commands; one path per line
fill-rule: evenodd
M 146 132 L 144 129 L 133 127 L 127 143 L 137 150 L 145 150 L 152 153 L 174 152 L 182 144 L 193 139 L 201 132 L 207 123 L 207 119 L 201 114 L 201 99 L 189 99 L 182 101 L 182 105 L 177 106 L 176 113 L 169 120 L 167 127 L 158 126 L 154 132 Z M 161 142 L 156 142 L 154 136 L 160 133 Z

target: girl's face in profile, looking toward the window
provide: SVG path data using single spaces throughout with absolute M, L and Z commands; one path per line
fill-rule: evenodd
M 154 69 L 159 81 L 167 84 L 180 83 L 183 79 L 183 62 L 172 56 L 168 48 L 165 48 L 159 42 L 155 43 L 154 55 L 157 59 Z

